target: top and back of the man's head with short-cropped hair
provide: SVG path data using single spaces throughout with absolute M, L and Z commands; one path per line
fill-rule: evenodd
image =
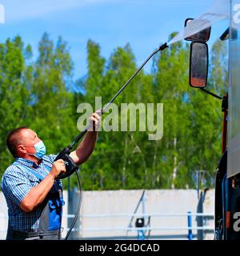
M 34 136 L 37 136 L 33 130 L 26 126 L 18 127 L 7 135 L 6 146 L 14 158 L 18 157 L 18 146 L 27 144 Z

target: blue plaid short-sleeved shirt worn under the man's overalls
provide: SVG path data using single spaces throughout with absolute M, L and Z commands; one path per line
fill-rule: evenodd
M 2 176 L 2 192 L 8 206 L 9 225 L 14 230 L 23 232 L 38 231 L 39 220 L 42 214 L 41 204 L 31 212 L 25 212 L 19 207 L 22 199 L 39 183 L 38 178 L 29 171 L 32 168 L 43 178 L 49 173 L 56 155 L 44 156 L 39 166 L 28 159 L 16 158 L 14 164 L 9 166 Z M 62 190 L 62 182 L 56 180 L 51 192 Z

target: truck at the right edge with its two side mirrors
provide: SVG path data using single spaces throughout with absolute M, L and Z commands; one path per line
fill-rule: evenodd
M 192 19 L 187 18 L 185 24 Z M 240 239 L 240 1 L 230 1 L 229 27 L 220 40 L 229 42 L 229 86 L 219 96 L 206 89 L 210 27 L 185 38 L 190 42 L 190 86 L 222 100 L 222 157 L 215 176 L 214 239 Z M 194 89 L 195 90 L 195 89 Z M 214 132 L 214 131 L 213 131 Z

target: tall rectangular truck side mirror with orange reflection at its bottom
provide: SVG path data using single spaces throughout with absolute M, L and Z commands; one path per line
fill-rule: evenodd
M 189 83 L 192 87 L 204 88 L 208 74 L 208 46 L 206 42 L 191 42 Z

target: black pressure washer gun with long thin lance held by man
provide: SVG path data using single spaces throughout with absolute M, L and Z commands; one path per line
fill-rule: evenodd
M 124 90 L 126 88 L 126 86 L 134 79 L 134 77 L 139 73 L 140 70 L 142 70 L 143 66 L 146 65 L 147 62 L 149 62 L 150 58 L 152 58 L 154 56 L 154 54 L 157 54 L 158 51 L 160 50 L 164 50 L 166 49 L 168 46 L 166 43 L 164 43 L 162 46 L 160 46 L 158 48 L 158 50 L 155 50 L 152 54 L 150 54 L 150 56 L 146 59 L 145 62 L 142 63 L 142 66 L 140 66 L 138 68 L 138 70 L 135 71 L 135 73 L 132 75 L 132 77 L 126 82 L 126 84 L 124 86 L 122 86 L 122 88 L 120 90 L 118 90 L 118 93 L 114 95 L 114 98 L 112 98 L 110 100 L 110 102 L 108 102 L 103 108 L 102 108 L 102 113 L 104 114 L 106 109 L 108 108 L 108 106 L 110 106 L 110 104 L 112 102 L 114 102 L 115 98 L 118 97 L 119 94 L 122 93 L 122 90 Z M 66 146 L 66 148 L 64 148 L 59 154 L 58 156 L 55 158 L 55 161 L 58 159 L 62 159 L 65 162 L 65 166 L 66 166 L 66 173 L 64 174 L 59 174 L 58 178 L 67 178 L 68 176 L 70 176 L 71 174 L 73 174 L 75 171 L 78 170 L 78 166 L 74 163 L 73 159 L 70 158 L 70 152 L 71 150 L 73 150 L 75 144 L 86 134 L 87 130 L 89 130 L 90 128 L 92 128 L 92 125 L 88 125 L 86 126 L 85 130 L 82 130 L 82 132 L 78 135 L 77 138 L 75 138 L 74 142 L 72 142 L 69 146 Z

